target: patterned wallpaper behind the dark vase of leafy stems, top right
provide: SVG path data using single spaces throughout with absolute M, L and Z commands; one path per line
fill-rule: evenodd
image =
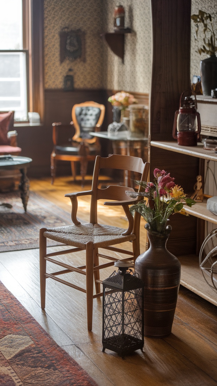
M 212 15 L 213 27 L 217 39 L 217 1 L 214 0 L 191 0 L 191 14 L 198 14 L 202 10 Z M 201 26 L 200 26 L 201 27 Z M 199 44 L 203 44 L 202 28 L 198 31 Z M 217 44 L 217 42 L 216 42 Z M 200 75 L 200 61 L 208 58 L 206 54 L 197 52 L 198 43 L 195 41 L 195 24 L 191 20 L 191 80 L 193 75 Z

